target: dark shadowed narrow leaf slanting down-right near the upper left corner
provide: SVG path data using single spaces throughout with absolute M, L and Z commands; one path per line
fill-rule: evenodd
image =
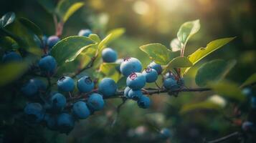
M 27 29 L 31 30 L 32 32 L 34 32 L 34 34 L 36 34 L 40 39 L 42 39 L 42 31 L 39 28 L 39 26 L 37 26 L 36 24 L 34 24 L 34 22 L 30 21 L 29 19 L 26 18 L 19 18 L 19 21 L 27 27 Z

